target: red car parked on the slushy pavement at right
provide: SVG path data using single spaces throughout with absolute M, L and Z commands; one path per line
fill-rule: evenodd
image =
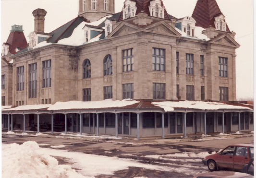
M 219 168 L 241 171 L 244 165 L 248 164 L 253 157 L 253 144 L 235 144 L 229 145 L 217 154 L 206 156 L 205 159 L 203 159 L 203 163 L 208 166 L 210 171 Z

